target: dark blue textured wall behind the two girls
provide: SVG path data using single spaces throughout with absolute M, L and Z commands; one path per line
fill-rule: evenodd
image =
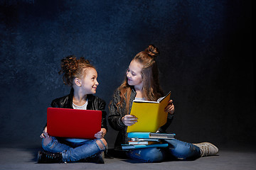
M 69 92 L 58 75 L 63 57 L 95 64 L 97 96 L 109 103 L 132 57 L 151 43 L 176 105 L 169 132 L 219 146 L 255 142 L 251 16 L 242 0 L 1 1 L 1 143 L 40 143 L 46 108 Z M 110 146 L 114 137 L 110 128 Z

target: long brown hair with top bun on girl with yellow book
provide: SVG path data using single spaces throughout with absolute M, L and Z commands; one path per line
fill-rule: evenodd
M 156 101 L 161 96 L 164 96 L 159 84 L 159 70 L 156 64 L 156 55 L 159 55 L 159 50 L 154 45 L 149 45 L 144 51 L 139 52 L 134 57 L 134 61 L 142 64 L 142 94 L 147 101 Z M 119 86 L 121 100 L 117 103 L 122 107 L 122 102 L 125 101 L 127 112 L 129 111 L 129 98 L 132 92 L 132 86 L 129 86 L 127 77 Z

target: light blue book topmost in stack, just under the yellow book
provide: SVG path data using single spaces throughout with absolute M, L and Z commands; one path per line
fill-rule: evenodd
M 131 138 L 153 138 L 162 140 L 174 139 L 174 133 L 153 133 L 153 132 L 129 132 L 128 137 Z

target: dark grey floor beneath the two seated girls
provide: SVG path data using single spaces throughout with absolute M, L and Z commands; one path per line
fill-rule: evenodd
M 230 169 L 246 170 L 256 169 L 256 149 L 245 147 L 243 149 L 220 149 L 218 156 L 202 157 L 195 161 L 172 161 L 161 163 L 138 163 L 127 159 L 105 159 L 105 164 L 94 163 L 68 163 L 68 164 L 37 164 L 36 154 L 41 148 L 36 147 L 6 147 L 0 146 L 0 170 L 5 169 Z

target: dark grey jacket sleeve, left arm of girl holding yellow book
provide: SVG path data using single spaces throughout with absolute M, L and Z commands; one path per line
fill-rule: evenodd
M 118 131 L 126 127 L 124 123 L 122 123 L 122 117 L 125 115 L 124 109 L 117 108 L 117 103 L 119 101 L 120 101 L 119 91 L 115 91 L 112 101 L 110 101 L 110 115 L 108 117 L 108 120 L 109 120 L 110 126 L 114 130 L 118 130 Z

